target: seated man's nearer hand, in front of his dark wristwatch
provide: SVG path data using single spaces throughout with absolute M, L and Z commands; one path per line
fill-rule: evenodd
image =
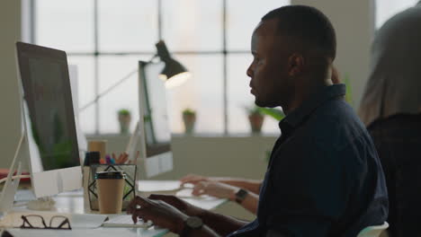
M 139 196 L 130 201 L 127 213 L 131 215 L 134 223 L 138 222 L 138 218 L 142 218 L 145 222 L 152 221 L 153 224 L 178 234 L 182 233 L 184 220 L 188 217 L 165 201 Z

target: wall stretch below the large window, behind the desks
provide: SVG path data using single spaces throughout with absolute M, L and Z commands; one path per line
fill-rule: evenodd
M 128 136 L 89 136 L 88 140 L 107 140 L 107 153 L 124 151 Z M 266 152 L 276 137 L 201 137 L 173 136 L 174 170 L 154 177 L 175 180 L 188 173 L 209 176 L 236 176 L 263 179 Z

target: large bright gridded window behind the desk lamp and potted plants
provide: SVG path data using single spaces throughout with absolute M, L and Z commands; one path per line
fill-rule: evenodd
M 268 11 L 288 0 L 54 0 L 34 1 L 34 43 L 67 51 L 78 66 L 79 107 L 136 70 L 166 41 L 173 56 L 193 73 L 168 91 L 171 127 L 183 133 L 182 110 L 197 112 L 198 134 L 248 133 L 245 107 L 253 104 L 246 67 L 251 34 Z M 137 75 L 80 111 L 88 134 L 119 132 L 117 110 L 139 118 Z M 266 118 L 264 133 L 278 133 Z M 131 129 L 135 122 L 131 123 Z

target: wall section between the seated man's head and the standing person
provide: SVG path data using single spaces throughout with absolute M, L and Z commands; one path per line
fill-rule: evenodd
M 369 74 L 370 48 L 375 29 L 374 1 L 291 0 L 291 4 L 312 5 L 325 13 L 333 23 L 337 41 L 335 65 L 342 77 L 349 75 L 354 109 L 357 109 Z

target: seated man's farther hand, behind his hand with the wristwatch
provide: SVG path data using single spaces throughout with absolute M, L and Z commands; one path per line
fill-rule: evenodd
M 171 206 L 175 206 L 175 208 L 183 212 L 185 215 L 201 216 L 202 213 L 206 211 L 201 207 L 193 206 L 188 202 L 172 195 L 151 194 L 149 199 L 164 201 Z

